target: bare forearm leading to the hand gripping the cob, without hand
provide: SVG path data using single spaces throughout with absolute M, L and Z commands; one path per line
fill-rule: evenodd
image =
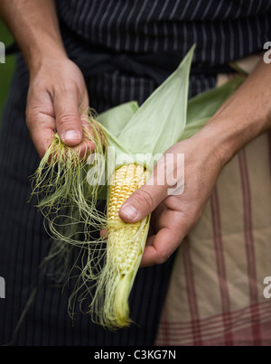
M 271 127 L 271 66 L 260 61 L 195 138 L 211 145 L 222 165 Z

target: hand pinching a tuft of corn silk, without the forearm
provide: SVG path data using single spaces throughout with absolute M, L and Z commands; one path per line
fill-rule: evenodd
M 30 71 L 26 123 L 33 144 L 42 158 L 57 132 L 65 145 L 77 146 L 82 141 L 80 111 L 89 106 L 84 78 L 78 66 L 67 57 L 43 59 Z M 93 144 L 80 145 L 79 153 Z

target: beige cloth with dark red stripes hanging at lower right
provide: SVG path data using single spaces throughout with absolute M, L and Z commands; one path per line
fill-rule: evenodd
M 182 242 L 155 344 L 270 345 L 270 275 L 269 132 L 227 164 Z

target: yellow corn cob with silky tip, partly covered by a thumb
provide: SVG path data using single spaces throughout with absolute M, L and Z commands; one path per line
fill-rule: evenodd
M 128 326 L 130 294 L 145 247 L 149 217 L 134 224 L 122 221 L 118 211 L 146 179 L 145 167 L 124 165 L 110 183 L 107 207 L 107 261 L 98 279 L 92 312 L 109 329 Z M 95 319 L 94 319 L 95 320 Z

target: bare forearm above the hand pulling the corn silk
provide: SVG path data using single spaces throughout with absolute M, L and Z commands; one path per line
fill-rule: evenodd
M 1 0 L 0 14 L 30 70 L 44 58 L 65 57 L 54 0 Z

